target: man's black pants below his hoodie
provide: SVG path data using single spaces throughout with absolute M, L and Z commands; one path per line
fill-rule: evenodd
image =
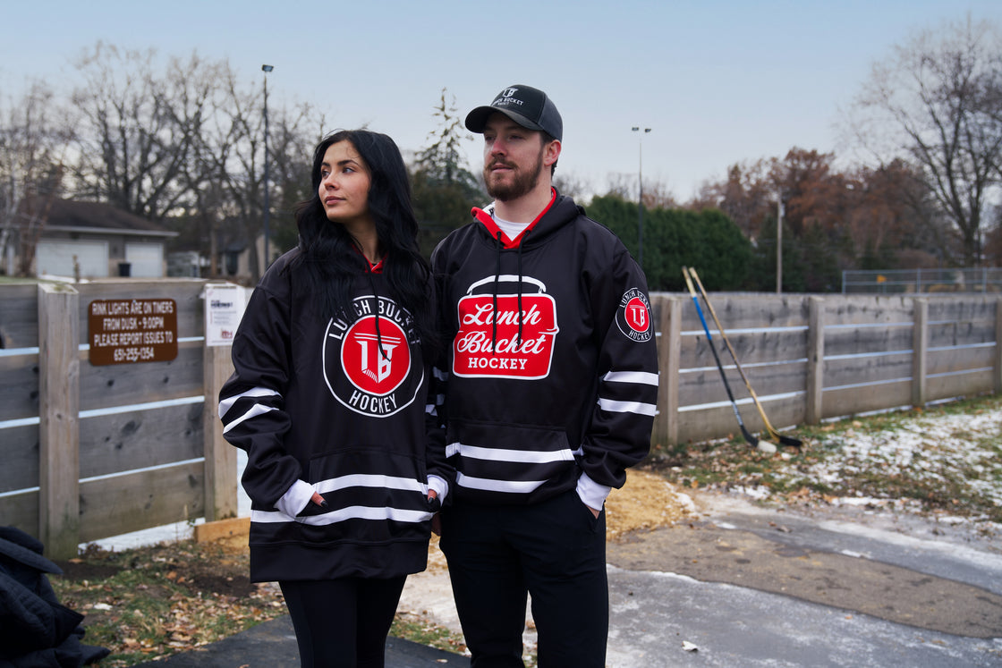
M 473 668 L 521 667 L 526 593 L 541 668 L 605 665 L 605 513 L 573 490 L 533 506 L 457 502 L 442 515 L 456 609 Z

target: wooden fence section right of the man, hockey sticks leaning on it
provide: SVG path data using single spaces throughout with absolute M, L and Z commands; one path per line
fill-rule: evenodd
M 828 418 L 1002 392 L 1002 298 L 710 294 L 741 369 L 777 429 Z M 748 429 L 764 429 L 700 301 Z M 737 432 L 706 336 L 687 295 L 651 295 L 661 388 L 653 441 Z M 677 370 L 672 373 L 671 370 Z

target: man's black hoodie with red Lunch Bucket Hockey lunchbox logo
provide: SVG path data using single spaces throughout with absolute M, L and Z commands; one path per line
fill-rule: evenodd
M 582 477 L 618 488 L 649 451 L 646 279 L 608 228 L 553 192 L 516 239 L 475 208 L 432 255 L 452 341 L 436 375 L 457 502 L 531 504 Z

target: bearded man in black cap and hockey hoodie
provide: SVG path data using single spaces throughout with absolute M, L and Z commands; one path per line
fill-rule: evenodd
M 441 547 L 475 668 L 523 665 L 527 592 L 539 665 L 601 667 L 602 507 L 647 454 L 656 404 L 646 281 L 553 188 L 563 121 L 546 93 L 506 88 L 466 126 L 484 136 L 494 202 L 433 255 L 457 469 Z

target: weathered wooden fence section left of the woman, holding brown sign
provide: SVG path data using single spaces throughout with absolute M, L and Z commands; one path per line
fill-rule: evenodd
M 54 557 L 79 543 L 236 514 L 236 453 L 216 393 L 229 349 L 204 346 L 202 280 L 0 286 L 0 525 Z M 94 366 L 89 305 L 171 299 L 176 357 Z

